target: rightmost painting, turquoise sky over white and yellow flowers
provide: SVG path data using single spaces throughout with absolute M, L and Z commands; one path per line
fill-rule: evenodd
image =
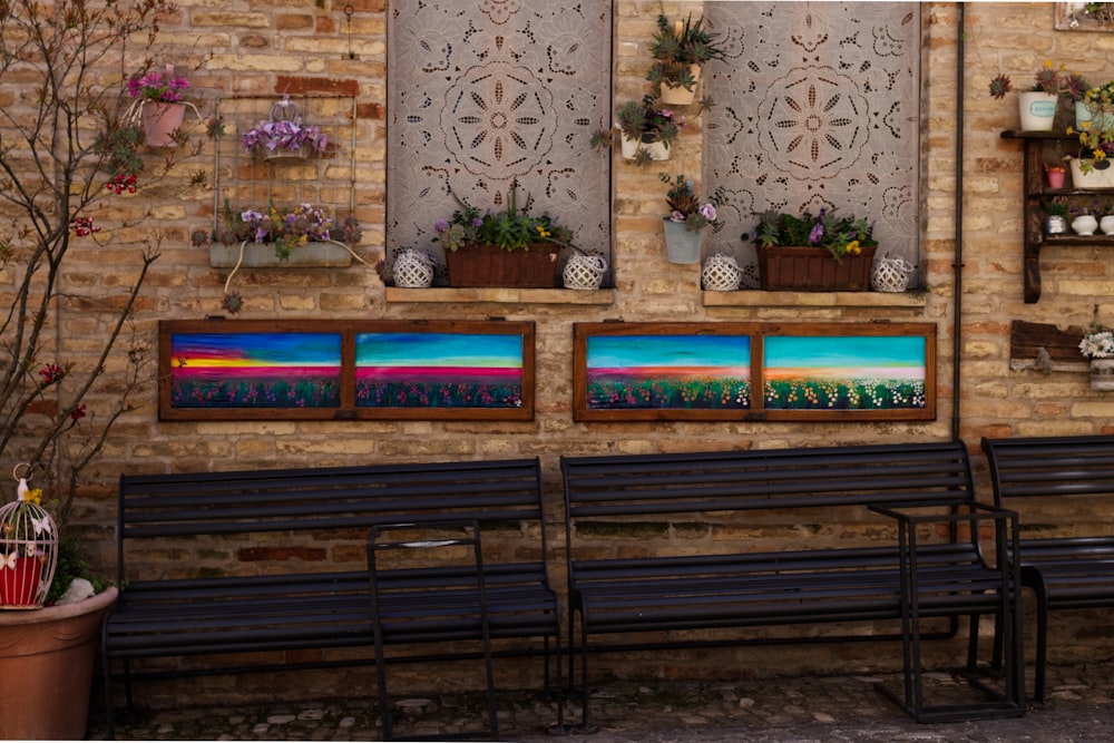
M 924 338 L 768 338 L 763 402 L 769 410 L 924 409 L 927 364 Z

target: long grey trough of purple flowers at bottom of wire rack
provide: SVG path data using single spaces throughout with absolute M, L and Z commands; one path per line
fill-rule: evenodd
M 215 239 L 209 241 L 209 236 L 199 231 L 194 242 L 209 242 L 213 267 L 232 267 L 224 283 L 223 306 L 237 314 L 243 309 L 243 300 L 237 292 L 231 291 L 231 286 L 242 266 L 274 267 L 291 263 L 302 267 L 334 267 L 351 265 L 352 258 L 370 266 L 350 247 L 360 237 L 354 217 L 338 223 L 333 211 L 326 206 L 299 204 L 278 208 L 272 203 L 262 212 L 248 208 L 236 213 L 226 199 Z M 248 254 L 247 248 L 252 245 L 271 246 L 272 255 Z

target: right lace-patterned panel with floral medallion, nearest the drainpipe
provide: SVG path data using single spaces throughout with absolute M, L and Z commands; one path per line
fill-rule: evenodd
M 698 12 L 698 11 L 697 11 Z M 917 263 L 920 7 L 913 2 L 706 2 L 727 58 L 707 68 L 705 188 L 732 205 L 705 254 L 749 266 L 740 236 L 765 209 L 876 223 L 879 254 Z

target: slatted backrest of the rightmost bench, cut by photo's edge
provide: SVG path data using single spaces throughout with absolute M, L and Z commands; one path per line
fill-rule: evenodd
M 1114 496 L 1114 436 L 984 438 L 983 451 L 997 506 L 1013 498 Z

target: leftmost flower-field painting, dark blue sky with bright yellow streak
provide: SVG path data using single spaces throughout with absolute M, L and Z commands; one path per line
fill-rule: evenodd
M 340 333 L 176 333 L 175 408 L 335 408 Z

